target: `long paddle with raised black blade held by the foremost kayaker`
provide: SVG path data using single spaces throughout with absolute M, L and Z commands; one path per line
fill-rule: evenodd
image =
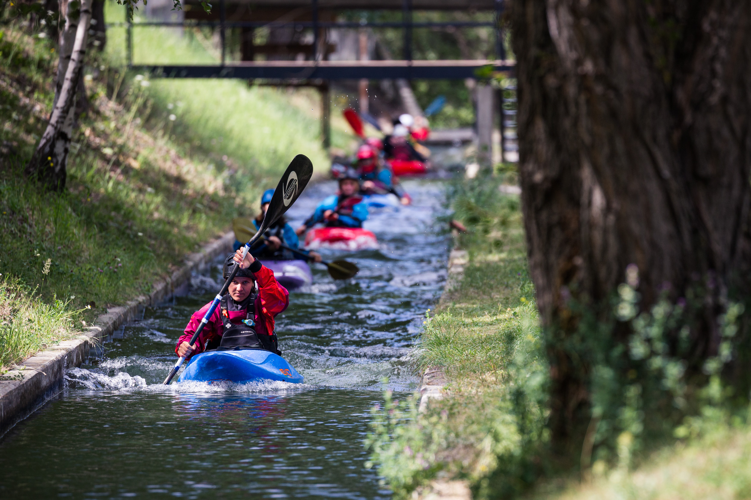
M 287 171 L 284 172 L 284 175 L 282 175 L 282 179 L 276 186 L 276 190 L 274 190 L 274 196 L 271 198 L 269 208 L 267 208 L 266 210 L 266 215 L 264 216 L 264 221 L 261 223 L 261 227 L 258 228 L 258 232 L 256 232 L 255 235 L 250 238 L 250 241 L 248 241 L 243 247 L 243 260 L 245 259 L 245 256 L 248 255 L 248 250 L 250 250 L 252 244 L 255 243 L 255 240 L 261 238 L 261 235 L 264 234 L 266 229 L 268 229 L 269 226 L 275 223 L 276 220 L 279 219 L 279 217 L 282 217 L 285 211 L 287 211 L 295 202 L 295 200 L 297 200 L 300 194 L 303 193 L 303 189 L 305 189 L 305 187 L 308 185 L 308 181 L 310 180 L 310 177 L 312 175 L 313 164 L 310 162 L 308 157 L 303 154 L 298 154 L 296 157 L 294 157 L 292 162 L 287 167 Z M 198 325 L 198 328 L 195 329 L 195 334 L 193 334 L 193 337 L 191 337 L 189 343 L 191 346 L 195 345 L 196 340 L 198 340 L 198 335 L 201 334 L 201 331 L 204 330 L 204 326 L 206 326 L 206 324 L 209 322 L 209 319 L 211 319 L 214 311 L 216 311 L 216 307 L 219 306 L 219 301 L 221 301 L 222 296 L 227 293 L 230 283 L 232 283 L 232 280 L 234 280 L 235 274 L 237 274 L 237 271 L 239 269 L 240 265 L 235 262 L 230 276 L 225 281 L 224 286 L 222 286 L 222 290 L 219 291 L 219 294 L 216 295 L 213 302 L 211 303 L 211 307 L 209 307 L 209 310 L 207 310 L 204 318 L 201 319 L 201 324 Z M 176 375 L 184 362 L 185 358 L 180 356 L 180 358 L 175 363 L 175 366 L 172 367 L 172 370 L 170 370 L 170 374 L 167 375 L 166 379 L 164 379 L 164 385 L 170 383 L 173 376 Z

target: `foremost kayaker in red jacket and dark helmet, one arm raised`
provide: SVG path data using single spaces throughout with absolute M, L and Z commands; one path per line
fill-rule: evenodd
M 191 346 L 189 340 L 211 303 L 193 313 L 185 333 L 177 340 L 175 352 L 178 356 L 189 357 L 209 349 L 242 347 L 256 347 L 281 354 L 274 333 L 274 318 L 287 309 L 289 292 L 261 261 L 250 253 L 241 262 L 242 257 L 242 250 L 237 250 L 225 260 L 225 280 L 235 262 L 240 262 L 240 270 L 195 345 Z

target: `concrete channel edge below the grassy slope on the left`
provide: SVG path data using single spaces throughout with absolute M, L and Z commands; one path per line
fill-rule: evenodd
M 85 333 L 38 352 L 17 369 L 5 373 L 0 380 L 0 436 L 59 394 L 65 385 L 65 370 L 79 366 L 101 340 L 134 319 L 143 308 L 187 292 L 192 273 L 201 271 L 222 253 L 231 252 L 234 239 L 234 233 L 228 232 L 210 242 L 189 255 L 185 264 L 170 277 L 155 283 L 149 295 L 140 295 L 122 306 L 110 307 Z

